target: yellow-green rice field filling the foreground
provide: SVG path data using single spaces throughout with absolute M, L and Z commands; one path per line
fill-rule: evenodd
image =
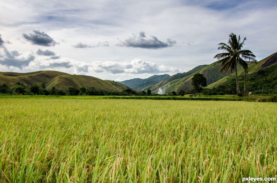
M 277 103 L 0 99 L 0 182 L 277 177 Z

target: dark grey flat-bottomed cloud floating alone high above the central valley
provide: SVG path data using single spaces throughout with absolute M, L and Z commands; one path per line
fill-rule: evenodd
M 145 48 L 145 49 L 161 49 L 174 46 L 177 42 L 167 39 L 166 42 L 158 40 L 155 36 L 147 38 L 145 32 L 140 32 L 139 37 L 133 34 L 133 37 L 129 37 L 125 41 L 121 41 L 116 46 L 133 47 L 133 48 Z

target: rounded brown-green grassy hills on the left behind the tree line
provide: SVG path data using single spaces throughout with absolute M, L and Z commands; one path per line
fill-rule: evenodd
M 58 71 L 37 71 L 28 73 L 0 72 L 0 85 L 8 85 L 11 88 L 23 85 L 30 87 L 32 85 L 44 86 L 51 89 L 53 86 L 57 89 L 68 89 L 69 87 L 94 87 L 98 90 L 122 92 L 128 87 L 115 81 L 101 80 L 93 76 L 71 75 Z

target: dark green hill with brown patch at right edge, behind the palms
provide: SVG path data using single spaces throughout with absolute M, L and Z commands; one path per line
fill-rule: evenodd
M 244 86 L 244 72 L 238 72 L 238 81 L 240 89 Z M 276 89 L 277 88 L 277 52 L 260 60 L 256 64 L 248 67 L 248 74 L 246 75 L 247 89 Z M 226 76 L 219 81 L 208 85 L 206 88 L 212 89 L 216 87 L 234 88 L 236 84 L 235 74 Z

